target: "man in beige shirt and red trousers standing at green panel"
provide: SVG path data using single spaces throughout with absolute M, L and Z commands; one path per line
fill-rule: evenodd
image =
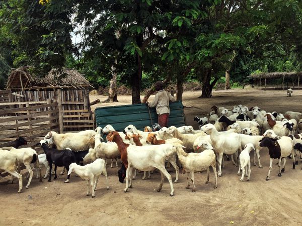
M 161 81 L 157 81 L 155 83 L 155 89 L 157 94 L 152 103 L 146 102 L 149 107 L 156 107 L 156 112 L 159 116 L 159 125 L 161 127 L 168 127 L 169 123 L 169 114 L 170 107 L 169 101 L 175 101 L 175 97 L 173 97 L 170 93 L 163 89 L 164 84 Z

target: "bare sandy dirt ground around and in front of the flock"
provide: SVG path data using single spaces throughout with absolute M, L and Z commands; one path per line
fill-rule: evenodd
M 241 103 L 267 111 L 302 112 L 302 90 L 294 90 L 293 97 L 286 97 L 285 91 L 252 88 L 213 91 L 213 98 L 208 99 L 198 98 L 199 95 L 200 92 L 185 92 L 183 96 L 186 122 L 194 128 L 198 127 L 193 122 L 194 116 L 208 114 L 214 104 L 232 107 Z M 91 96 L 91 101 L 96 98 L 104 100 L 106 96 Z M 117 104 L 131 103 L 130 96 L 118 96 L 118 100 Z M 94 107 L 108 105 L 113 104 Z M 180 174 L 179 182 L 173 183 L 174 197 L 169 196 L 167 180 L 161 192 L 155 190 L 160 182 L 159 173 L 145 181 L 139 173 L 133 180 L 133 188 L 124 193 L 125 183 L 118 181 L 118 168 L 110 165 L 107 165 L 110 189 L 106 190 L 105 178 L 100 177 L 95 198 L 86 196 L 86 181 L 74 174 L 68 184 L 64 184 L 66 174 L 52 182 L 33 179 L 30 188 L 24 188 L 21 194 L 17 193 L 17 180 L 9 184 L 8 178 L 0 178 L 0 225 L 301 225 L 302 163 L 299 161 L 292 170 L 292 160 L 288 159 L 285 172 L 278 177 L 275 160 L 270 180 L 265 181 L 269 155 L 264 151 L 260 155 L 263 169 L 252 166 L 250 181 L 241 182 L 238 168 L 226 162 L 217 189 L 213 188 L 212 171 L 209 184 L 205 184 L 205 172 L 195 173 L 195 193 L 185 189 L 186 175 Z M 168 171 L 174 178 L 174 169 Z M 24 186 L 26 183 L 24 177 Z

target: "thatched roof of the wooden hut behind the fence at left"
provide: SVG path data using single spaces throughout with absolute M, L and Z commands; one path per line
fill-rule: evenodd
M 45 77 L 30 74 L 29 67 L 12 69 L 6 88 L 64 88 L 92 86 L 91 83 L 77 70 L 63 69 L 63 74 L 52 69 Z

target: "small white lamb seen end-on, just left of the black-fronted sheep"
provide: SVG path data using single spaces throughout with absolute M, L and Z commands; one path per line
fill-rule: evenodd
M 239 155 L 240 164 L 239 164 L 239 170 L 237 175 L 240 175 L 240 170 L 242 170 L 242 176 L 240 178 L 240 181 L 243 181 L 244 175 L 247 173 L 246 176 L 248 176 L 247 181 L 250 180 L 251 176 L 251 160 L 250 160 L 250 152 L 255 151 L 254 145 L 251 143 L 248 143 L 245 145 L 244 150 Z

